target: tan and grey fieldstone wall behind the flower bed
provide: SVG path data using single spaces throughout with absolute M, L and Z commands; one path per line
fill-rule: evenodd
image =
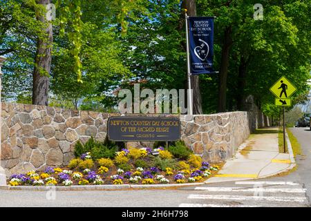
M 2 103 L 1 166 L 6 175 L 64 166 L 73 159 L 78 140 L 84 143 L 93 136 L 104 141 L 111 115 L 117 114 Z M 205 160 L 223 162 L 254 129 L 254 116 L 247 112 L 180 115 L 182 140 Z

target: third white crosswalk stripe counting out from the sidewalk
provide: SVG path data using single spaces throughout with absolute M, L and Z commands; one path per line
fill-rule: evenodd
M 307 202 L 307 198 L 299 197 L 276 197 L 276 196 L 257 196 L 257 195 L 200 195 L 190 194 L 188 199 L 202 200 L 267 200 L 276 202 Z

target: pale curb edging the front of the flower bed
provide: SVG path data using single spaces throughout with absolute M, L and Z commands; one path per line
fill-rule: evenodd
M 93 185 L 93 186 L 0 186 L 0 190 L 16 191 L 109 191 L 123 189 L 164 189 L 170 187 L 185 187 L 203 185 L 204 182 L 187 183 L 187 184 L 121 184 L 121 185 Z

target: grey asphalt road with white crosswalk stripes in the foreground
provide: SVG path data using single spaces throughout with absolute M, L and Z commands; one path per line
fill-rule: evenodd
M 124 191 L 0 191 L 0 206 L 310 206 L 311 131 L 291 128 L 303 155 L 290 175 L 181 189 Z

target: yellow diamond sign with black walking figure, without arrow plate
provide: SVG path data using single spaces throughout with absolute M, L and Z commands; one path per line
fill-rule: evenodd
M 270 91 L 278 98 L 288 98 L 296 91 L 296 87 L 286 77 L 282 76 L 270 88 Z

